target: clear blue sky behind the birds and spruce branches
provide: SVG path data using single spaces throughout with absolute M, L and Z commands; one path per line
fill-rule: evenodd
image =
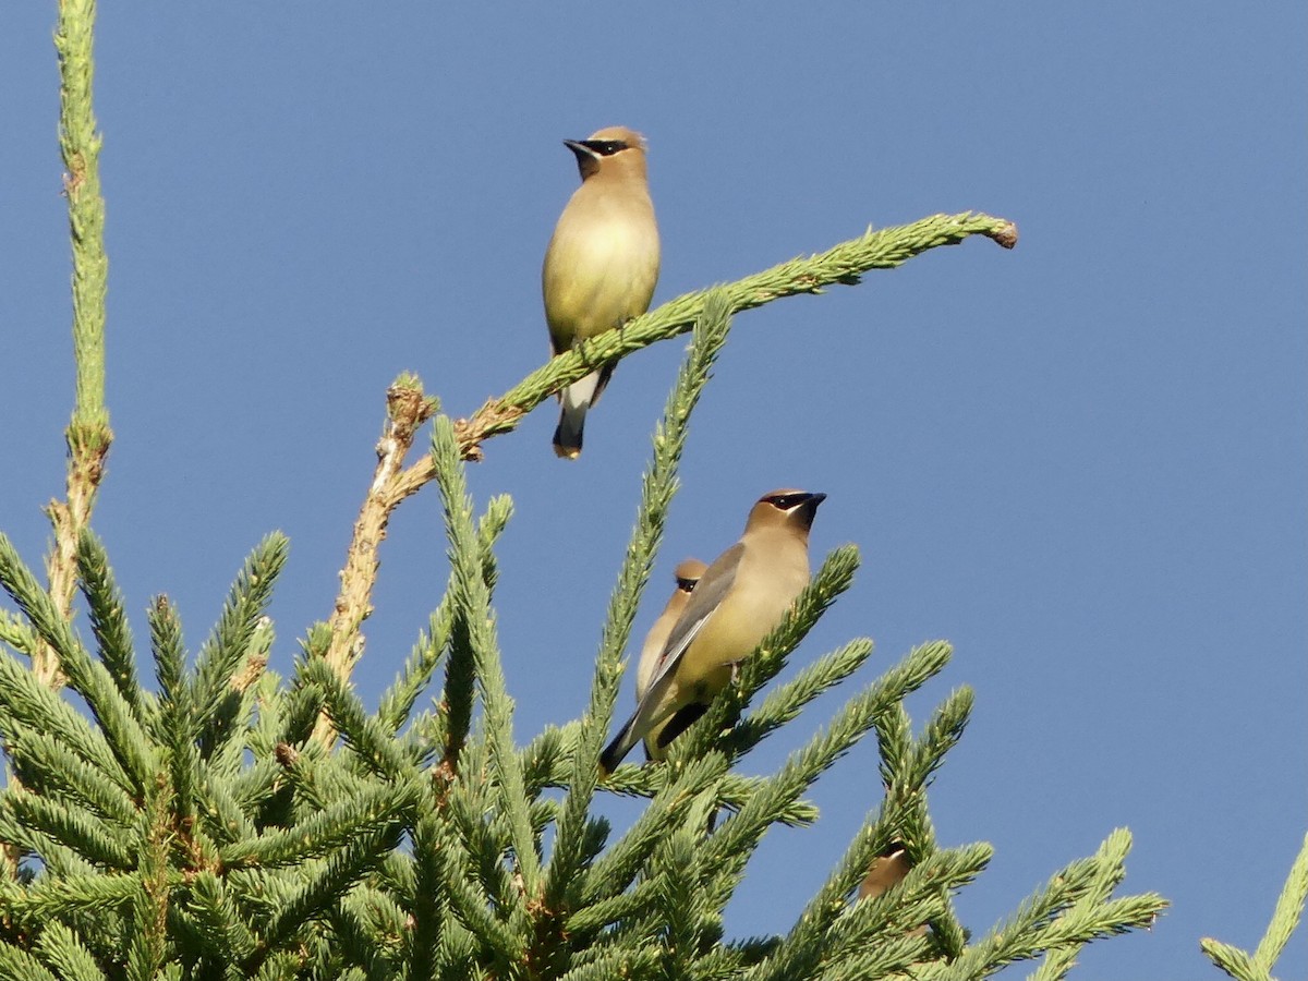
M 72 405 L 54 20 L 0 12 L 0 527 L 33 564 Z M 1198 938 L 1257 942 L 1308 824 L 1305 21 L 1215 3 L 106 5 L 116 442 L 94 523 L 137 636 L 167 593 L 198 646 L 281 528 L 289 666 L 331 611 L 387 383 L 417 371 L 467 415 L 545 357 L 564 137 L 649 137 L 655 302 L 869 224 L 1003 216 L 1012 252 L 967 242 L 736 319 L 637 629 L 760 493 L 827 492 L 815 557 L 854 542 L 865 564 L 795 662 L 867 634 L 867 681 L 944 637 L 955 661 L 910 710 L 976 688 L 931 797 L 942 842 L 997 849 L 965 923 L 1125 825 L 1124 891 L 1173 906 L 1076 976 L 1215 976 Z M 547 405 L 471 472 L 480 501 L 517 505 L 497 607 L 523 740 L 585 705 L 681 349 L 619 368 L 578 463 L 551 453 Z M 429 488 L 382 552 L 370 701 L 443 581 Z M 818 827 L 765 841 L 734 935 L 789 929 L 878 802 L 875 747 L 814 797 Z M 1308 976 L 1304 931 L 1278 973 Z

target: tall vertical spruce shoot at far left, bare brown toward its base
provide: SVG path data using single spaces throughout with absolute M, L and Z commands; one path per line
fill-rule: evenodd
M 95 0 L 59 4 L 55 51 L 59 55 L 59 148 L 64 161 L 64 195 L 73 259 L 73 354 L 76 403 L 65 430 L 67 500 L 51 501 L 46 514 L 55 542 L 46 566 L 50 595 L 67 619 L 77 582 L 77 540 L 90 523 L 95 493 L 105 475 L 114 433 L 105 408 L 105 199 L 99 188 L 101 136 L 92 105 Z M 42 644 L 33 651 L 33 671 L 44 684 L 60 684 L 59 657 Z

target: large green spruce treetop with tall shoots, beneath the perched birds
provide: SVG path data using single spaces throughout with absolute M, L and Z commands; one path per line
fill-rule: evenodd
M 90 111 L 94 5 L 67 0 L 58 47 L 73 232 L 77 405 L 67 501 L 51 508 L 42 582 L 0 535 L 0 978 L 978 978 L 1016 960 L 1063 976 L 1082 944 L 1152 922 L 1154 895 L 1113 899 L 1129 848 L 1113 832 L 1006 923 L 971 937 L 954 893 L 986 866 L 984 844 L 935 840 L 926 787 L 961 738 L 960 688 L 914 731 L 904 698 L 931 683 L 950 646 L 929 642 L 870 678 L 853 640 L 782 674 L 790 651 L 849 587 L 854 547 L 825 557 L 738 683 L 663 764 L 596 761 L 612 722 L 636 608 L 676 492 L 695 404 L 735 311 L 854 283 L 972 234 L 1012 243 L 988 216 L 934 216 L 691 294 L 600 339 L 616 358 L 693 327 L 625 560 L 600 632 L 589 705 L 519 744 L 496 634 L 494 547 L 511 502 L 477 508 L 464 468 L 481 442 L 589 368 L 555 358 L 471 420 L 441 415 L 412 377 L 390 392 L 378 473 L 356 526 L 336 615 L 311 627 L 288 676 L 269 670 L 267 616 L 286 540 L 264 539 L 195 651 L 166 596 L 137 640 L 90 514 L 111 442 L 103 407 L 103 201 Z M 608 345 L 608 347 L 606 347 Z M 430 451 L 405 466 L 426 421 Z M 391 511 L 434 483 L 449 581 L 403 671 L 370 710 L 349 675 Z M 71 586 L 71 587 L 69 587 Z M 75 590 L 76 594 L 75 595 Z M 825 723 L 804 708 L 850 693 Z M 766 776 L 738 764 L 782 726 L 806 736 Z M 729 937 L 723 909 L 764 835 L 812 825 L 812 783 L 857 743 L 878 747 L 880 793 L 862 829 L 783 937 Z M 869 755 L 870 756 L 870 755 Z M 645 800 L 616 829 L 602 798 Z M 818 833 L 811 831 L 810 833 Z M 857 896 L 888 848 L 910 870 Z M 795 905 L 800 905 L 797 897 Z

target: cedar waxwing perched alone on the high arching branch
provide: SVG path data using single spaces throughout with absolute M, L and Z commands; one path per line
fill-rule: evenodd
M 645 137 L 615 126 L 564 145 L 577 154 L 581 187 L 559 216 L 540 271 L 555 354 L 649 310 L 659 264 Z M 612 373 L 613 365 L 603 365 L 559 394 L 557 455 L 581 455 L 586 409 Z

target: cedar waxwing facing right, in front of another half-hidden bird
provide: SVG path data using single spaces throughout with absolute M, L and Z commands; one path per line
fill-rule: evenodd
M 600 753 L 612 773 L 636 743 L 654 734 L 650 753 L 705 713 L 808 585 L 808 528 L 827 494 L 773 490 L 749 511 L 744 535 L 708 568 L 672 625 L 636 714 Z

